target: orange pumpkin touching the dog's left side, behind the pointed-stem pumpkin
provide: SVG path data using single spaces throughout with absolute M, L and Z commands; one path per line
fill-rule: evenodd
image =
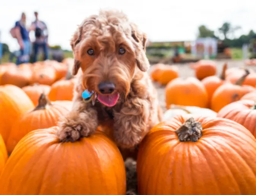
M 59 80 L 51 86 L 49 91 L 49 99 L 51 101 L 69 100 L 73 99 L 73 91 L 76 83 L 76 78 L 73 78 L 68 72 L 65 80 Z

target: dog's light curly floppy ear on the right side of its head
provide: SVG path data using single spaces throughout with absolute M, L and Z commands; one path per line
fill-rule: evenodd
M 147 36 L 144 33 L 141 33 L 137 30 L 136 25 L 132 24 L 131 36 L 136 41 L 135 46 L 135 55 L 136 63 L 139 69 L 143 72 L 146 72 L 149 69 L 149 60 L 146 56 L 146 42 Z

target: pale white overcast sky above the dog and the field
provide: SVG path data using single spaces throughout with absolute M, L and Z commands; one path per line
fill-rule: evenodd
M 71 49 L 69 40 L 76 26 L 106 8 L 123 10 L 151 41 L 193 40 L 199 25 L 217 30 L 225 21 L 242 27 L 236 36 L 256 31 L 256 0 L 4 0 L 0 6 L 0 41 L 11 50 L 18 49 L 9 30 L 22 11 L 27 14 L 27 24 L 38 11 L 49 28 L 49 44 Z

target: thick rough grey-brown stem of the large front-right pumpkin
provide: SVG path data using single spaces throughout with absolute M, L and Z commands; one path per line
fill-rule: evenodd
M 195 121 L 193 117 L 185 121 L 179 129 L 175 131 L 180 142 L 197 142 L 202 136 L 202 124 Z

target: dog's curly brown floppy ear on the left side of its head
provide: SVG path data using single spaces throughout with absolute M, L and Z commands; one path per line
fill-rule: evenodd
M 81 41 L 81 34 L 82 34 L 82 27 L 78 27 L 77 30 L 75 31 L 72 39 L 70 40 L 70 46 L 73 50 L 73 55 L 74 55 L 74 66 L 72 68 L 72 74 L 76 75 L 79 68 L 80 68 L 80 61 L 77 60 L 77 53 L 78 51 L 76 50 L 76 45 Z

